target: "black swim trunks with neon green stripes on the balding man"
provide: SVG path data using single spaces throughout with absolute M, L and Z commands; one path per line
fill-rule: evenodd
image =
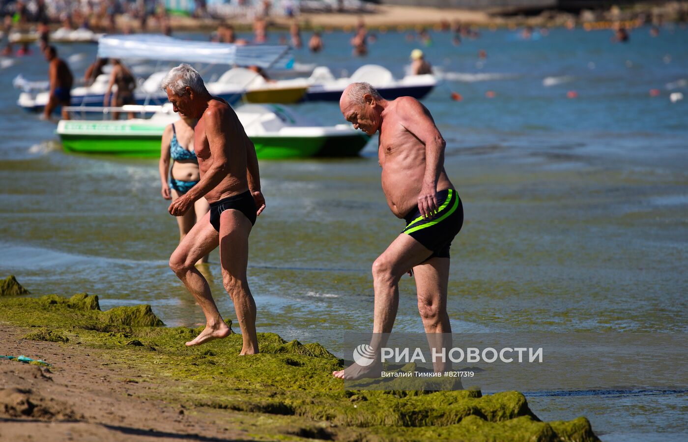
M 432 251 L 430 257 L 449 257 L 449 246 L 464 224 L 464 206 L 454 189 L 437 193 L 438 213 L 429 220 L 424 220 L 418 207 L 412 209 L 404 218 L 406 233 Z M 430 258 L 428 258 L 430 259 Z

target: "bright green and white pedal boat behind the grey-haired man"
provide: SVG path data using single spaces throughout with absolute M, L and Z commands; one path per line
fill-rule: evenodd
M 145 108 L 145 109 L 139 109 Z M 160 156 L 166 125 L 179 116 L 171 105 L 123 107 L 122 112 L 151 112 L 131 120 L 61 120 L 57 134 L 66 151 L 153 158 Z M 76 110 L 76 109 L 72 109 Z M 78 109 L 83 111 L 84 109 Z M 103 112 L 103 109 L 89 109 Z M 318 126 L 280 105 L 243 105 L 235 109 L 260 159 L 356 156 L 370 139 L 351 125 Z

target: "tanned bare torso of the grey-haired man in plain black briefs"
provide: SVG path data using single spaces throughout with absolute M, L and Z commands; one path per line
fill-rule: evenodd
M 212 120 L 208 117 L 209 113 L 219 116 L 217 123 L 207 123 Z M 246 151 L 247 143 L 251 143 L 237 114 L 226 101 L 217 97 L 208 101 L 208 108 L 198 120 L 194 131 L 193 146 L 198 158 L 201 178 L 213 164 L 211 142 L 223 145 L 223 151 L 228 160 L 227 175 L 215 189 L 211 189 L 205 195 L 206 200 L 213 203 L 248 190 Z

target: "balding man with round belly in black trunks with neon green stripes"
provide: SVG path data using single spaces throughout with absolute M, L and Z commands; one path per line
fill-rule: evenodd
M 429 341 L 431 336 L 447 336 L 430 334 L 451 333 L 449 246 L 462 227 L 464 211 L 444 172 L 444 138 L 418 100 L 408 96 L 385 100 L 368 83 L 349 85 L 339 107 L 355 129 L 368 135 L 380 131 L 383 191 L 392 213 L 406 220 L 406 228 L 373 263 L 376 335 L 371 346 L 379 351 L 385 344 L 383 334 L 391 332 L 399 302 L 398 282 L 404 273 L 415 276 L 418 311 Z M 341 379 L 380 377 L 379 353 L 374 362 L 365 367 L 354 363 L 332 374 Z M 435 364 L 436 371 L 448 368 Z

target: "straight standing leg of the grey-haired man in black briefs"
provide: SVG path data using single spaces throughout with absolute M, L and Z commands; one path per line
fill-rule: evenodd
M 248 265 L 248 235 L 252 224 L 244 213 L 235 209 L 222 212 L 219 220 L 219 260 L 222 264 L 222 282 L 234 303 L 241 326 L 244 345 L 241 355 L 258 352 L 256 335 L 256 303 L 246 280 Z

